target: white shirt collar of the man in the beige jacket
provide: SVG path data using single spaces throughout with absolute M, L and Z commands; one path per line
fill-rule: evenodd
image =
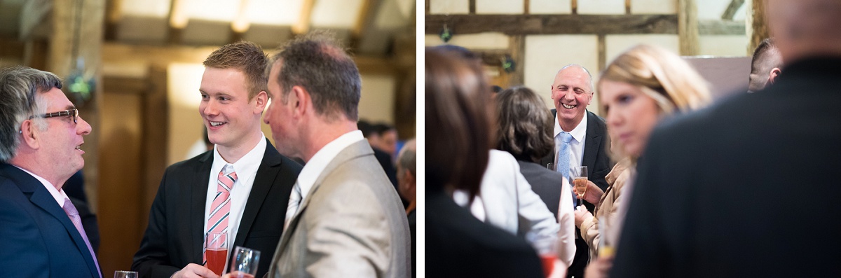
M 304 165 L 304 169 L 301 169 L 301 173 L 298 175 L 298 185 L 301 187 L 301 200 L 306 199 L 307 194 L 309 194 L 309 189 L 315 185 L 315 180 L 321 175 L 321 171 L 323 171 L 327 165 L 336 158 L 336 155 L 339 155 L 339 152 L 341 152 L 342 149 L 345 149 L 347 146 L 364 139 L 365 137 L 362 136 L 362 131 L 357 129 L 346 134 L 342 134 L 339 138 L 333 139 L 330 143 L 325 144 L 324 147 L 319 149 L 319 151 L 316 152 L 309 161 L 307 161 Z

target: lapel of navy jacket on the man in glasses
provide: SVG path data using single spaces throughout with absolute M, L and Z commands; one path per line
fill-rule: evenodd
M 61 222 L 61 225 L 63 225 L 67 230 L 67 233 L 70 234 L 70 238 L 73 239 L 73 243 L 76 244 L 76 248 L 79 249 L 80 253 L 82 253 L 82 257 L 85 258 L 87 269 L 91 270 L 91 275 L 94 277 L 101 277 L 101 275 L 99 275 L 99 271 L 97 270 L 96 263 L 93 262 L 91 252 L 87 250 L 87 244 L 85 244 L 85 240 L 82 239 L 82 233 L 79 233 L 76 226 L 71 222 L 70 217 L 67 216 L 64 209 L 62 209 L 58 202 L 56 202 L 56 199 L 52 197 L 50 191 L 47 191 L 47 189 L 44 188 L 44 185 L 35 179 L 34 176 L 29 176 L 29 174 L 13 165 L 4 164 L 2 168 L 3 172 L 9 174 L 9 179 L 13 180 L 20 188 L 20 191 L 29 195 L 29 202 L 32 202 L 35 207 L 40 207 L 45 212 L 49 213 L 50 216 Z

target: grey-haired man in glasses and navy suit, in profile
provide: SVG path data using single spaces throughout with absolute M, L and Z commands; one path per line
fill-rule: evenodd
M 16 277 L 102 277 L 62 189 L 85 165 L 91 125 L 50 72 L 0 71 L 0 99 L 0 268 Z

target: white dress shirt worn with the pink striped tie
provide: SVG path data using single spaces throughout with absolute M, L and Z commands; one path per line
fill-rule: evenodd
M 240 228 L 240 219 L 242 212 L 246 209 L 246 202 L 248 196 L 251 194 L 251 186 L 254 185 L 254 177 L 257 176 L 257 168 L 262 163 L 262 157 L 266 153 L 266 136 L 262 136 L 260 142 L 254 146 L 253 149 L 243 155 L 240 160 L 230 163 L 222 158 L 219 154 L 218 146 L 214 146 L 213 150 L 213 165 L 210 166 L 210 179 L 208 181 L 208 194 L 204 198 L 204 232 L 208 230 L 208 218 L 210 207 L 213 204 L 213 199 L 216 196 L 217 181 L 219 180 L 219 172 L 225 165 L 234 165 L 236 173 L 236 182 L 234 187 L 230 190 L 230 214 L 228 215 L 228 249 L 234 249 L 234 240 L 236 239 L 236 231 Z M 225 263 L 225 268 L 227 268 Z

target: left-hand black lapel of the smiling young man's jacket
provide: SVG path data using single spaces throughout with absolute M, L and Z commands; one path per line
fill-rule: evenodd
M 191 241 L 193 242 L 193 262 L 202 263 L 202 252 L 204 250 L 204 206 L 208 194 L 210 182 L 210 167 L 213 166 L 213 151 L 206 152 L 195 169 L 194 176 L 186 176 L 186 182 L 190 186 L 186 189 L 190 196 L 189 223 Z

